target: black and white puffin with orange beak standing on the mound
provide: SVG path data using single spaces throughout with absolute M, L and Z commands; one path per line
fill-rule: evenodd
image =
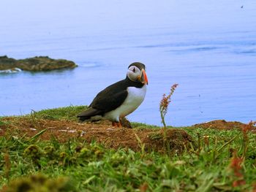
M 80 114 L 80 121 L 97 121 L 107 119 L 112 126 L 121 127 L 120 118 L 134 112 L 146 96 L 148 77 L 146 66 L 140 62 L 128 66 L 127 76 L 100 91 L 89 108 Z

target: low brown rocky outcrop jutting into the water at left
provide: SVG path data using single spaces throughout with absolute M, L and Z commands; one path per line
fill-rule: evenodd
M 25 59 L 8 58 L 7 55 L 0 56 L 0 70 L 16 70 L 21 69 L 24 71 L 39 72 L 50 71 L 56 69 L 72 69 L 77 65 L 73 61 L 65 59 L 53 59 L 49 57 L 34 57 Z

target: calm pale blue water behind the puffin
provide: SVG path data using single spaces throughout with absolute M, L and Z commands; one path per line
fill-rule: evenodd
M 79 65 L 0 74 L 0 115 L 90 104 L 140 61 L 148 92 L 129 120 L 160 125 L 173 83 L 168 125 L 256 120 L 256 1 L 1 0 L 0 9 L 0 55 Z

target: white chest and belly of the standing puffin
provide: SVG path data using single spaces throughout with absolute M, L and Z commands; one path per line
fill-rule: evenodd
M 146 95 L 146 85 L 142 88 L 129 87 L 127 88 L 128 96 L 124 100 L 124 103 L 116 110 L 110 111 L 105 114 L 105 118 L 118 121 L 119 118 L 123 118 L 135 111 L 143 102 Z

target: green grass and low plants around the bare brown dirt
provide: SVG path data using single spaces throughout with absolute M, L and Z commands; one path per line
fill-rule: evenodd
M 33 112 L 34 120 L 76 120 L 85 107 Z M 8 122 L 11 123 L 11 122 Z M 7 123 L 0 118 L 1 126 Z M 132 123 L 135 128 L 157 128 Z M 0 137 L 3 191 L 253 191 L 256 137 L 239 130 L 182 128 L 197 147 L 171 155 L 112 150 L 83 138 L 60 143 L 24 135 Z M 14 137 L 15 135 L 15 137 Z M 152 137 L 157 137 L 154 135 Z M 246 139 L 246 140 L 245 140 Z M 140 144 L 143 147 L 143 144 Z M 246 151 L 245 151 L 246 150 Z M 245 154 L 244 154 L 245 153 Z

